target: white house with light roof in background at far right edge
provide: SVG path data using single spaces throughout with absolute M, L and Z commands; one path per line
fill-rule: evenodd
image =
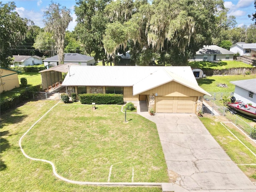
M 241 56 L 253 56 L 256 55 L 256 43 L 237 42 L 230 47 L 230 51 L 239 53 Z

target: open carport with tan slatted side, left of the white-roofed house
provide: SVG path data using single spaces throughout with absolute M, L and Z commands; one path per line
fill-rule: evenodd
M 40 71 L 42 80 L 42 90 L 48 90 L 49 87 L 54 88 L 54 86 L 56 87 L 57 84 L 60 85 L 62 83 L 62 73 L 67 73 L 69 71 L 70 66 L 79 66 L 79 64 L 61 64 Z

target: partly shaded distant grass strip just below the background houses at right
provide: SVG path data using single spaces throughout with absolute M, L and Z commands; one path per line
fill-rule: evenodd
M 209 62 L 209 61 L 193 61 L 188 63 L 192 69 L 202 69 L 202 70 L 223 70 L 230 68 L 253 68 L 252 65 L 248 65 L 240 61 L 220 61 L 220 62 Z

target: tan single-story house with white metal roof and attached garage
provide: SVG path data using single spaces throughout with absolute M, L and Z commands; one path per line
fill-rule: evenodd
M 124 101 L 146 101 L 159 113 L 196 113 L 198 100 L 210 96 L 190 66 L 71 66 L 62 86 L 68 94 L 123 94 Z

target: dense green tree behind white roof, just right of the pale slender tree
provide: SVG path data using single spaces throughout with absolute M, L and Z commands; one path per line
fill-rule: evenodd
M 77 25 L 75 27 L 76 38 L 82 43 L 86 54 L 94 56 L 95 60 L 107 59 L 103 35 L 105 33 L 108 18 L 104 15 L 104 9 L 110 0 L 78 0 L 75 6 Z

